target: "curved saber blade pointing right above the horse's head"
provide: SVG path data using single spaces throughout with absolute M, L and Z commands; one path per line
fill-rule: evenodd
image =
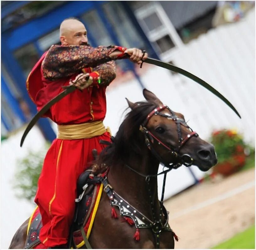
M 229 100 L 227 100 L 227 98 L 225 98 L 220 92 L 218 92 L 215 88 L 211 87 L 211 85 L 209 85 L 207 82 L 205 82 L 204 80 L 200 79 L 199 77 L 187 72 L 184 69 L 181 69 L 179 67 L 176 67 L 172 64 L 169 64 L 167 62 L 162 62 L 156 59 L 152 59 L 152 58 L 147 58 L 145 60 L 145 62 L 152 64 L 152 65 L 156 65 L 177 73 L 180 73 L 190 79 L 192 79 L 193 81 L 199 83 L 201 86 L 205 87 L 206 89 L 208 89 L 209 91 L 211 91 L 211 93 L 215 94 L 218 98 L 220 98 L 224 103 L 226 103 L 241 119 L 240 114 L 237 112 L 237 110 L 235 109 L 235 107 L 229 102 Z

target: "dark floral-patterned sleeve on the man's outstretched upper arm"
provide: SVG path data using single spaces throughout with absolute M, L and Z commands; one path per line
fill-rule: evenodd
M 115 46 L 93 48 L 85 45 L 52 45 L 42 62 L 43 76 L 47 80 L 55 81 L 79 73 L 83 68 L 104 65 L 113 60 L 109 54 L 116 49 Z M 109 64 L 107 65 L 103 66 L 104 69 L 109 67 Z

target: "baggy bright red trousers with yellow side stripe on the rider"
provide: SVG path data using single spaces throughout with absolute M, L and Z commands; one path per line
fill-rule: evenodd
M 46 247 L 67 244 L 77 179 L 93 161 L 92 150 L 104 148 L 100 140 L 110 141 L 109 133 L 90 139 L 55 139 L 48 150 L 35 197 L 43 224 L 39 238 Z

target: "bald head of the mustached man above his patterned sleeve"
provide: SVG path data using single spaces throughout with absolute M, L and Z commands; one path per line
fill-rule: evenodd
M 87 45 L 87 31 L 77 19 L 65 19 L 60 26 L 62 45 Z

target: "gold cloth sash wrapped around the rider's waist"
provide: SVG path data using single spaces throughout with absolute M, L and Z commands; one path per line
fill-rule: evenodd
M 109 127 L 105 128 L 103 121 L 87 122 L 82 124 L 58 125 L 57 139 L 76 140 L 101 136 L 106 131 L 110 133 Z

